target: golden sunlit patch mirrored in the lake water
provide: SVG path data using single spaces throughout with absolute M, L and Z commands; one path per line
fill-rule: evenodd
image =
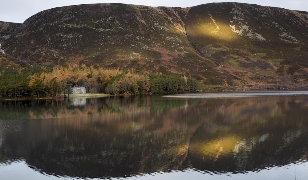
M 234 147 L 241 140 L 240 137 L 227 136 L 212 141 L 198 141 L 189 145 L 189 152 L 202 159 L 216 160 L 220 156 L 233 154 Z

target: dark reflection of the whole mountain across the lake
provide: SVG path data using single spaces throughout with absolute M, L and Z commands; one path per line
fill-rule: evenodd
M 81 108 L 57 102 L 57 118 L 16 121 L 22 128 L 1 132 L 0 160 L 24 157 L 46 173 L 92 178 L 279 166 L 308 152 L 307 102 L 114 97 L 86 99 Z

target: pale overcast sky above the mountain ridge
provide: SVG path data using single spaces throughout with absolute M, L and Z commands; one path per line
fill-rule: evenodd
M 30 16 L 42 10 L 78 4 L 124 3 L 155 7 L 192 7 L 211 2 L 242 2 L 308 11 L 307 0 L 3 0 L 0 6 L 0 21 L 22 23 Z

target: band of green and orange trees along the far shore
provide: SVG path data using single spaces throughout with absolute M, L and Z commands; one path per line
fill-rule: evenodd
M 73 86 L 85 87 L 87 93 L 115 95 L 196 92 L 200 89 L 199 82 L 192 77 L 143 73 L 121 68 L 70 64 L 16 70 L 0 66 L 2 99 L 63 96 Z

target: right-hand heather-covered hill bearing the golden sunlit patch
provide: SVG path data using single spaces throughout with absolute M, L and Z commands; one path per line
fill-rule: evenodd
M 307 80 L 306 12 L 211 3 L 191 8 L 185 24 L 198 52 L 241 83 L 272 84 L 286 74 Z

